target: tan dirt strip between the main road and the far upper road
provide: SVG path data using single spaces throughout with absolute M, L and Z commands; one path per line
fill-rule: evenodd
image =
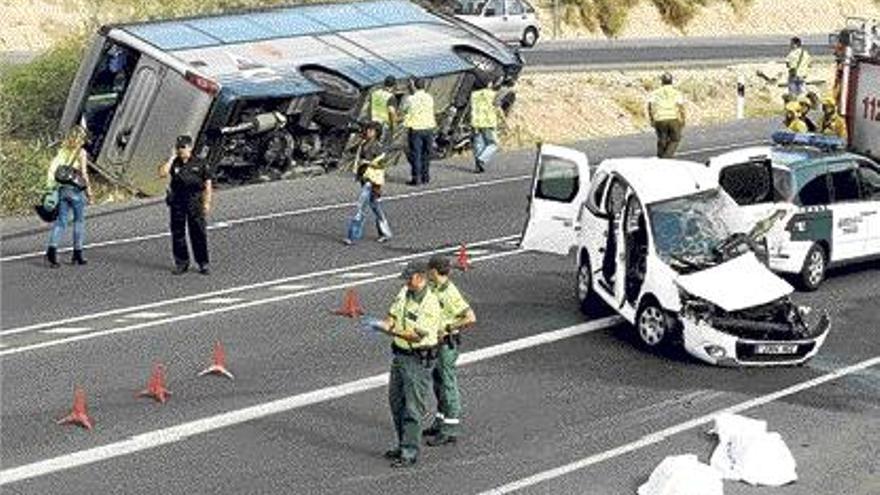
M 810 90 L 822 95 L 833 81 L 830 64 L 814 66 Z M 736 84 L 746 84 L 746 117 L 782 114 L 781 64 L 736 65 L 726 69 L 672 71 L 687 100 L 689 126 L 736 118 Z M 826 82 L 822 84 L 822 82 Z M 505 144 L 565 143 L 651 130 L 646 101 L 658 74 L 566 72 L 525 74 L 506 122 Z

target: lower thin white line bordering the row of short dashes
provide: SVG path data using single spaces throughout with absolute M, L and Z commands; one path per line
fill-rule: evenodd
M 496 259 L 496 258 L 504 258 L 507 256 L 521 254 L 523 252 L 525 252 L 525 251 L 508 251 L 508 252 L 504 252 L 504 253 L 496 253 L 496 254 L 492 254 L 489 256 L 483 256 L 482 258 L 480 258 L 478 260 L 474 260 L 474 261 L 478 262 L 478 261 L 484 261 L 484 260 L 490 260 L 490 259 Z M 97 332 L 92 332 L 92 333 L 87 333 L 87 334 L 82 334 L 82 335 L 75 335 L 75 336 L 67 337 L 67 338 L 59 338 L 56 340 L 49 340 L 49 341 L 45 341 L 45 342 L 39 342 L 36 344 L 24 345 L 24 346 L 20 346 L 20 347 L 13 347 L 11 349 L 0 350 L 0 357 L 11 356 L 13 354 L 21 354 L 24 352 L 34 351 L 37 349 L 45 349 L 48 347 L 55 347 L 55 346 L 59 346 L 62 344 L 69 344 L 71 342 L 90 340 L 90 339 L 94 339 L 97 337 L 104 337 L 107 335 L 128 333 L 128 332 L 132 332 L 134 330 L 140 330 L 143 328 L 152 328 L 152 327 L 157 327 L 160 325 L 165 325 L 168 323 L 193 320 L 193 319 L 201 318 L 204 316 L 211 316 L 211 315 L 215 315 L 215 314 L 227 313 L 230 311 L 237 311 L 237 310 L 245 309 L 245 308 L 263 306 L 266 304 L 273 304 L 273 303 L 277 303 L 277 302 L 281 302 L 281 301 L 298 299 L 300 297 L 311 296 L 311 295 L 315 295 L 315 294 L 323 294 L 326 292 L 332 292 L 332 291 L 339 290 L 339 289 L 347 289 L 349 287 L 356 287 L 356 286 L 360 286 L 360 285 L 372 284 L 372 283 L 376 283 L 376 282 L 381 282 L 383 280 L 396 279 L 398 277 L 398 275 L 399 275 L 399 273 L 392 273 L 392 274 L 382 275 L 382 276 L 378 276 L 378 277 L 371 278 L 371 279 L 357 280 L 357 281 L 353 281 L 353 282 L 345 282 L 342 284 L 336 284 L 336 285 L 331 285 L 331 286 L 326 286 L 326 287 L 319 287 L 316 289 L 311 289 L 311 290 L 307 290 L 307 291 L 303 291 L 303 292 L 296 292 L 294 294 L 284 294 L 284 295 L 280 295 L 280 296 L 268 297 L 265 299 L 257 299 L 257 300 L 253 300 L 253 301 L 242 302 L 242 303 L 233 304 L 230 306 L 221 306 L 218 308 L 206 309 L 206 310 L 198 311 L 195 313 L 188 313 L 188 314 L 173 316 L 173 317 L 165 318 L 162 320 L 145 321 L 143 323 L 137 323 L 134 325 L 128 325 L 128 326 L 119 327 L 119 328 L 108 328 L 106 330 L 100 330 Z

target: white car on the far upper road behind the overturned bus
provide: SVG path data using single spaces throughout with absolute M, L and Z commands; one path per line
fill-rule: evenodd
M 526 0 L 459 0 L 455 16 L 524 47 L 535 46 L 541 34 L 535 8 Z

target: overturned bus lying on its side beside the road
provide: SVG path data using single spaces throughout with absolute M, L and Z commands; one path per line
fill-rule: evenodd
M 156 166 L 189 134 L 218 182 L 328 170 L 345 163 L 369 95 L 391 75 L 435 98 L 435 153 L 467 145 L 477 81 L 508 88 L 523 60 L 478 28 L 405 0 L 288 6 L 104 26 L 68 95 L 62 132 L 90 133 L 93 166 L 155 195 Z M 400 145 L 403 133 L 395 132 Z

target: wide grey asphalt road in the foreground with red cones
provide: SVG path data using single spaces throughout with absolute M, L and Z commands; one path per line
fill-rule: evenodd
M 694 129 L 683 151 L 702 160 L 767 129 Z M 600 159 L 651 146 L 641 135 L 580 147 Z M 800 480 L 772 491 L 728 483 L 725 493 L 880 492 L 876 266 L 838 271 L 819 292 L 796 295 L 834 320 L 807 366 L 718 369 L 647 352 L 608 315 L 578 312 L 570 260 L 512 245 L 531 155 L 505 154 L 483 176 L 463 162 L 438 164 L 430 189 L 406 187 L 394 170 L 388 245 L 339 242 L 356 189 L 342 176 L 221 191 L 210 277 L 168 273 L 167 213 L 155 201 L 94 208 L 90 242 L 102 246 L 88 249 L 84 268 L 42 267 L 31 253 L 45 229 L 5 222 L 0 491 L 462 494 L 537 474 L 517 486 L 634 493 L 665 455 L 708 459 L 714 442 L 695 418 L 757 399 L 743 413 L 783 435 Z M 461 367 L 466 436 L 426 448 L 416 469 L 391 470 L 381 459 L 393 437 L 387 341 L 332 310 L 354 286 L 368 313 L 381 314 L 400 263 L 460 242 L 474 267 L 457 277 L 479 318 Z M 195 376 L 217 340 L 235 381 Z M 164 405 L 134 397 L 155 362 L 174 393 Z M 857 363 L 867 364 L 809 382 Z M 92 432 L 54 424 L 76 384 Z M 579 461 L 582 469 L 550 471 Z

